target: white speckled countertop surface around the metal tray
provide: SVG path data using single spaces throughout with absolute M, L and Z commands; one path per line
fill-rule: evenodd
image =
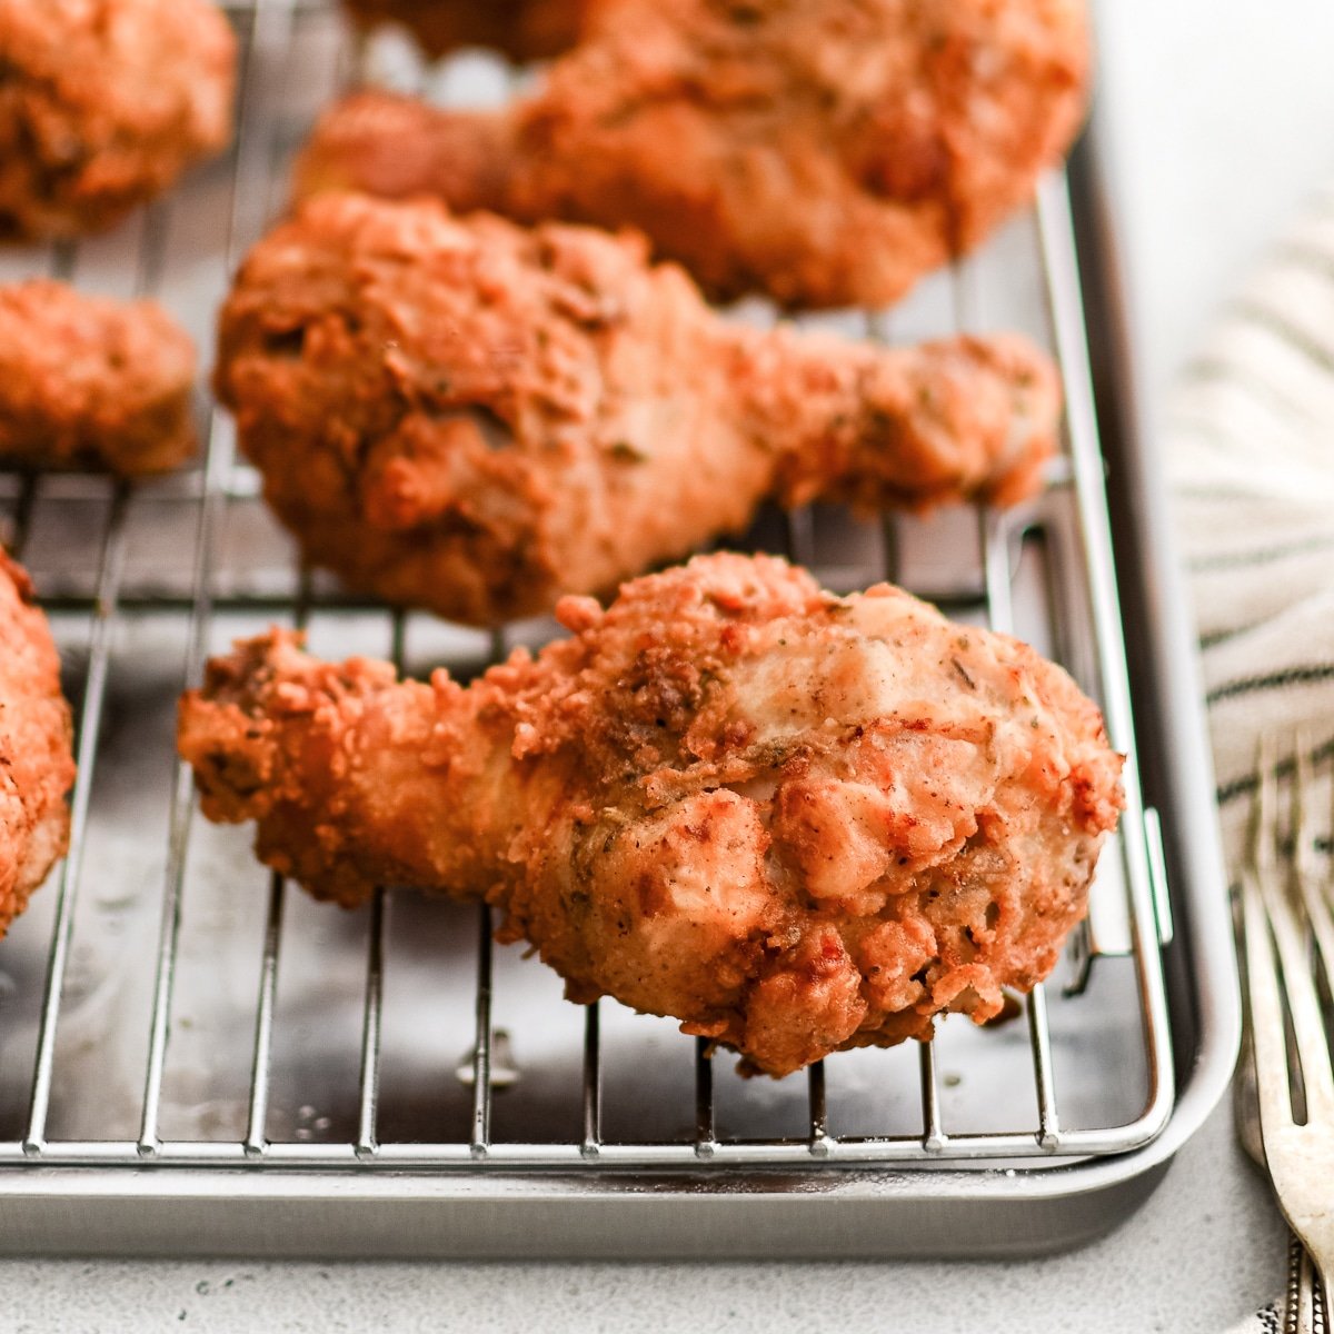
M 1150 407 L 1210 311 L 1334 175 L 1329 0 L 1106 0 L 1102 96 Z M 1034 1262 L 0 1263 L 0 1326 L 204 1330 L 982 1330 L 1214 1334 L 1275 1295 L 1283 1233 L 1222 1107 L 1105 1241 Z

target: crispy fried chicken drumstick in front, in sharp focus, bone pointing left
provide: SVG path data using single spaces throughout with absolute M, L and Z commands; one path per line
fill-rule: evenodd
M 347 906 L 486 899 L 572 1000 L 771 1075 L 982 1022 L 1054 966 L 1122 802 L 1061 668 L 764 556 L 559 616 L 570 639 L 470 688 L 237 644 L 181 704 L 205 815 L 257 820 L 265 864 Z

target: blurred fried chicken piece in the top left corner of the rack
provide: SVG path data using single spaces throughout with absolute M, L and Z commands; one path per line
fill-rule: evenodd
M 119 221 L 231 137 L 236 41 L 207 0 L 0 0 L 0 236 Z

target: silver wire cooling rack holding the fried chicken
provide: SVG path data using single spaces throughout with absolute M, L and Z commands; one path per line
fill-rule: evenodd
M 281 208 L 291 149 L 352 63 L 317 4 L 231 13 L 244 80 L 229 156 L 109 237 L 0 256 L 0 279 L 49 272 L 155 295 L 207 363 L 228 275 Z M 386 49 L 372 65 L 402 69 Z M 511 81 L 470 56 L 428 91 L 499 97 Z M 772 313 L 750 303 L 735 316 Z M 342 912 L 289 894 L 251 856 L 248 830 L 201 820 L 175 758 L 175 699 L 205 658 L 279 622 L 304 626 L 328 656 L 467 678 L 556 627 L 451 627 L 301 570 L 228 419 L 201 398 L 207 451 L 173 478 L 0 475 L 0 538 L 44 595 L 79 759 L 69 856 L 0 946 L 0 1165 L 1023 1170 L 1125 1151 L 1162 1129 L 1174 1098 L 1159 954 L 1170 920 L 1158 818 L 1134 763 L 1063 179 L 895 311 L 808 323 L 896 340 L 1018 327 L 1059 358 L 1066 447 L 1031 504 L 883 524 L 826 508 L 766 514 L 743 543 L 810 566 L 827 587 L 890 578 L 959 619 L 1013 630 L 1099 699 L 1130 755 L 1127 807 L 1090 923 L 1054 979 L 1014 998 L 1009 1023 L 955 1017 L 928 1045 L 743 1081 L 728 1054 L 668 1021 L 562 1000 L 540 963 L 494 948 L 488 908 L 380 892 Z

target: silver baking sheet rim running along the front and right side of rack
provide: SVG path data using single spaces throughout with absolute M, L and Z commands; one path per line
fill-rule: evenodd
M 1097 152 L 1095 120 L 1081 153 L 1086 277 L 1110 340 L 1122 414 L 1119 459 L 1155 559 L 1145 600 L 1157 738 L 1189 848 L 1173 882 L 1198 1033 L 1161 1133 L 1129 1154 L 1006 1170 L 730 1173 L 655 1178 L 644 1171 L 424 1171 L 259 1174 L 245 1167 L 39 1167 L 0 1170 L 0 1254 L 264 1257 L 762 1258 L 1035 1255 L 1083 1245 L 1123 1222 L 1154 1190 L 1178 1149 L 1218 1103 L 1241 1039 L 1226 875 L 1210 794 L 1211 762 L 1189 639 L 1186 602 L 1153 458 L 1133 394 L 1134 340 L 1115 264 L 1115 225 Z M 1090 240 L 1093 244 L 1090 244 Z M 1126 571 L 1118 571 L 1125 578 Z M 1171 851 L 1171 850 L 1170 850 Z M 208 1225 L 200 1206 L 207 1205 Z M 986 1235 L 978 1237 L 978 1210 Z M 960 1245 L 960 1239 L 962 1245 Z

